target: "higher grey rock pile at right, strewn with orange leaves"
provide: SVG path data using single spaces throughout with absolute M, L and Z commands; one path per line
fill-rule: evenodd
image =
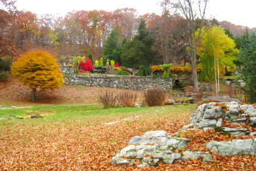
M 204 130 L 210 128 L 221 127 L 223 121 L 232 124 L 247 124 L 251 127 L 256 126 L 256 109 L 253 105 L 239 105 L 236 102 L 225 104 L 208 103 L 202 104 L 189 120 L 189 125 L 184 128 L 193 127 L 195 129 L 202 128 Z M 223 131 L 231 135 L 244 136 L 250 135 L 250 131 L 246 128 L 235 129 L 223 127 Z

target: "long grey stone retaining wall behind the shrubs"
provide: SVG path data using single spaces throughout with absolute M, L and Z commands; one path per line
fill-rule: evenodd
M 65 75 L 65 84 L 80 84 L 93 87 L 112 87 L 125 89 L 147 89 L 150 87 L 162 88 L 165 91 L 172 91 L 172 78 L 149 78 L 142 76 L 117 76 L 117 75 L 75 75 L 72 67 L 61 67 Z

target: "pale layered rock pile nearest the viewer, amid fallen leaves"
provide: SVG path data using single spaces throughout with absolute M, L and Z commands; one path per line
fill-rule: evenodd
M 113 165 L 132 165 L 135 160 L 141 160 L 143 166 L 157 166 L 158 162 L 173 164 L 175 161 L 182 161 L 188 158 L 198 159 L 202 157 L 203 161 L 212 161 L 212 156 L 208 152 L 191 152 L 189 150 L 175 153 L 174 149 L 180 149 L 189 143 L 189 139 L 170 137 L 165 131 L 149 131 L 143 137 L 135 136 L 129 145 L 121 150 L 112 158 Z

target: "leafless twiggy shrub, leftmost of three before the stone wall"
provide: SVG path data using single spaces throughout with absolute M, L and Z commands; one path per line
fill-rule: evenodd
M 106 91 L 105 93 L 101 94 L 97 97 L 97 102 L 103 105 L 103 108 L 115 108 L 118 107 L 119 98 L 113 91 Z

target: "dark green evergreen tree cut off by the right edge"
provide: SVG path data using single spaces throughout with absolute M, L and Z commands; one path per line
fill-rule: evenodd
M 256 35 L 246 33 L 241 37 L 238 62 L 242 64 L 242 75 L 246 81 L 245 93 L 250 103 L 256 102 Z

